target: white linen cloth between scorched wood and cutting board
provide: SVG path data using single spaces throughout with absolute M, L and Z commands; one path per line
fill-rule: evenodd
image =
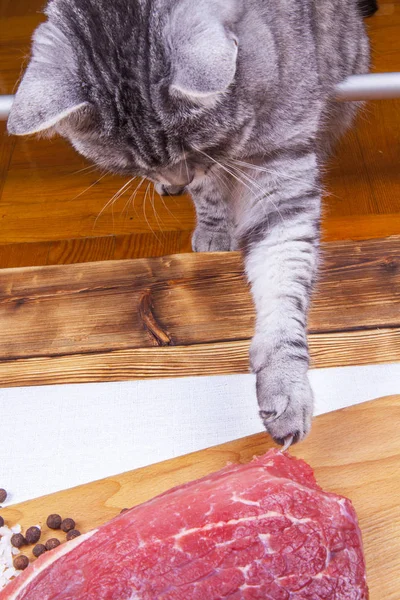
M 321 414 L 400 393 L 400 363 L 315 369 L 311 382 Z M 254 383 L 230 375 L 0 389 L 6 504 L 262 431 Z

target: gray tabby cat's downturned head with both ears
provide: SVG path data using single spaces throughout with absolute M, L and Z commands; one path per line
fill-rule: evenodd
M 241 0 L 52 0 L 8 131 L 59 133 L 109 171 L 183 187 L 233 153 Z

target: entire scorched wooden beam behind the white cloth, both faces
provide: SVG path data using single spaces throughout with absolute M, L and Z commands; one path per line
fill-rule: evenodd
M 309 319 L 314 366 L 400 358 L 400 238 L 335 242 Z M 0 271 L 0 383 L 246 372 L 238 253 Z M 103 379 L 101 379 L 103 378 Z

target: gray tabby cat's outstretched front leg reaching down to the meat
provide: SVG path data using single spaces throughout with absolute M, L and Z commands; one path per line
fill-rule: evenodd
M 307 150 L 282 153 L 257 173 L 238 226 L 257 315 L 250 361 L 261 419 L 283 444 L 307 435 L 313 411 L 306 327 L 318 261 L 319 173 Z

